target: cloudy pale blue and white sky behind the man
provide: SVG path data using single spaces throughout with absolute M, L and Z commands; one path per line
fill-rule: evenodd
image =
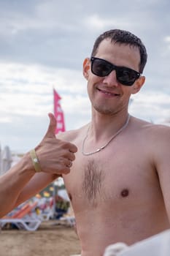
M 99 34 L 131 31 L 148 60 L 132 116 L 170 121 L 169 0 L 0 0 L 0 144 L 16 153 L 34 148 L 53 112 L 53 88 L 61 96 L 66 130 L 90 121 L 82 62 Z

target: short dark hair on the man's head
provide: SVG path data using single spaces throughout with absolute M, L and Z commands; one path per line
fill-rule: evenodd
M 110 38 L 111 42 L 131 45 L 136 48 L 139 48 L 140 52 L 140 63 L 139 63 L 139 72 L 142 73 L 144 70 L 144 66 L 147 63 L 147 50 L 142 43 L 142 40 L 139 37 L 136 37 L 134 34 L 131 34 L 129 31 L 120 30 L 120 29 L 111 29 L 109 31 L 105 31 L 101 34 L 95 41 L 93 45 L 93 50 L 91 53 L 91 57 L 95 56 L 98 50 L 98 46 L 104 40 Z

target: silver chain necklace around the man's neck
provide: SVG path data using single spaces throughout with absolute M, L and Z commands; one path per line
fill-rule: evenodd
M 121 127 L 121 128 L 115 133 L 115 135 L 113 135 L 112 138 L 111 138 L 104 146 L 101 146 L 101 148 L 98 148 L 98 149 L 96 149 L 95 151 L 85 152 L 85 151 L 84 151 L 85 140 L 87 140 L 87 138 L 88 138 L 88 132 L 89 132 L 89 129 L 90 129 L 90 126 L 89 126 L 89 127 L 88 127 L 88 132 L 87 132 L 87 134 L 85 135 L 84 140 L 82 140 L 82 154 L 83 154 L 84 156 L 90 156 L 91 154 L 96 154 L 96 153 L 98 153 L 99 151 L 101 151 L 102 149 L 106 148 L 106 146 L 109 145 L 109 143 L 110 143 L 120 132 L 122 132 L 123 129 L 125 129 L 125 127 L 128 126 L 128 122 L 129 122 L 129 120 L 130 120 L 130 117 L 131 117 L 131 116 L 128 115 L 128 118 L 127 118 L 127 120 L 125 121 L 125 124 L 123 125 L 123 127 Z

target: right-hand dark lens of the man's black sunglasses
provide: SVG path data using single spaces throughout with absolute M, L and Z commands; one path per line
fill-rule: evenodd
M 118 67 L 116 70 L 117 80 L 125 86 L 132 86 L 138 75 L 132 69 Z

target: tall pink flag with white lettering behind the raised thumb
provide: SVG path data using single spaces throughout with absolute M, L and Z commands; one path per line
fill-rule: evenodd
M 60 105 L 60 95 L 53 89 L 54 93 L 54 116 L 57 120 L 57 127 L 55 129 L 55 134 L 58 132 L 64 132 L 65 131 L 65 124 L 64 124 L 64 118 L 63 118 L 63 110 L 61 109 Z

